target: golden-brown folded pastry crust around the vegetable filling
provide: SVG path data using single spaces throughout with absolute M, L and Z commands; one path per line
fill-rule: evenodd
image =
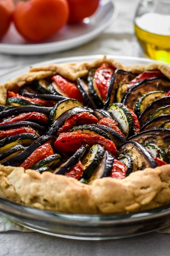
M 0 85 L 0 104 L 6 103 L 7 90 L 17 91 L 25 83 L 56 74 L 74 81 L 103 63 L 137 73 L 159 69 L 170 78 L 169 66 L 124 66 L 105 56 L 92 63 L 51 64 L 33 67 L 28 73 Z M 122 180 L 96 179 L 91 185 L 51 172 L 39 174 L 22 167 L 0 165 L 0 195 L 23 205 L 67 213 L 111 214 L 146 210 L 170 203 L 170 165 L 136 171 Z

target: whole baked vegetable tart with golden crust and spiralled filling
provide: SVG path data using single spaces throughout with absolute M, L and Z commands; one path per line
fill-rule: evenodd
M 0 195 L 66 213 L 170 203 L 170 67 L 51 64 L 0 85 Z

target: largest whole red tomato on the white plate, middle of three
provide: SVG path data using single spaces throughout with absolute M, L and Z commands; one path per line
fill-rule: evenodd
M 68 17 L 67 0 L 28 0 L 16 5 L 14 23 L 23 37 L 41 41 L 60 30 Z

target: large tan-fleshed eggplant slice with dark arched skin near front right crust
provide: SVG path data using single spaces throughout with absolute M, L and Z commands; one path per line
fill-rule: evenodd
M 155 168 L 157 166 L 151 154 L 138 142 L 124 143 L 119 148 L 119 152 L 132 158 L 133 171 L 144 170 L 147 167 Z

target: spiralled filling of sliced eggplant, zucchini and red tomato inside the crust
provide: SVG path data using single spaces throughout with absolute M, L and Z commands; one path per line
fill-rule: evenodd
M 104 63 L 75 82 L 60 75 L 8 91 L 0 106 L 0 163 L 103 177 L 170 162 L 170 80 Z

